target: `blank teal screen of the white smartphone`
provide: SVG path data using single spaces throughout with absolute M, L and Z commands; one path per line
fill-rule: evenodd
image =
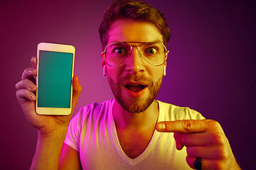
M 73 53 L 39 51 L 38 107 L 70 108 Z

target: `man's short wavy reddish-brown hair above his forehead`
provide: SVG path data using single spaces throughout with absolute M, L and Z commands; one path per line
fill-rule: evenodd
M 137 21 L 149 21 L 156 24 L 164 38 L 164 45 L 171 38 L 171 32 L 161 11 L 142 1 L 116 0 L 104 12 L 102 23 L 100 24 L 99 33 L 102 48 L 107 45 L 108 31 L 111 24 L 121 18 L 132 18 Z

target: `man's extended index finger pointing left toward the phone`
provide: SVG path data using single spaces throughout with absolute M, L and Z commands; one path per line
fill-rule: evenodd
M 159 132 L 204 132 L 213 120 L 176 120 L 156 124 Z

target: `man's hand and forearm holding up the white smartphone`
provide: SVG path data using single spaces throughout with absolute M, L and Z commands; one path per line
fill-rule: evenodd
M 38 142 L 31 169 L 58 169 L 68 123 L 82 91 L 78 77 L 73 77 L 73 105 L 70 115 L 38 115 L 36 113 L 36 57 L 31 58 L 32 67 L 23 71 L 21 81 L 16 84 L 16 97 L 24 115 L 38 130 Z

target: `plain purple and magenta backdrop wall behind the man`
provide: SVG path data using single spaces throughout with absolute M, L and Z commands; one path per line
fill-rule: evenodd
M 255 5 L 249 1 L 148 0 L 164 12 L 172 37 L 161 101 L 217 120 L 244 169 L 255 161 Z M 0 1 L 0 169 L 28 169 L 37 132 L 26 121 L 15 84 L 38 42 L 76 47 L 81 106 L 112 98 L 102 76 L 97 30 L 105 1 Z

